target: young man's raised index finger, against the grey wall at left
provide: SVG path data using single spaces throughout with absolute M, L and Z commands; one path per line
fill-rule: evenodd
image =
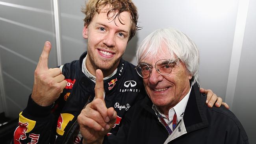
M 46 41 L 45 46 L 43 48 L 43 52 L 39 57 L 39 61 L 37 64 L 37 69 L 39 70 L 48 70 L 48 57 L 51 50 L 51 43 Z

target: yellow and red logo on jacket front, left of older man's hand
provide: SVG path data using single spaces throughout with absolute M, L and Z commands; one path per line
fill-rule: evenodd
M 61 113 L 59 115 L 58 118 L 58 122 L 57 122 L 57 128 L 56 128 L 56 132 L 59 135 L 63 135 L 64 134 L 64 129 L 67 126 L 67 124 L 73 120 L 74 116 L 72 114 L 69 113 Z

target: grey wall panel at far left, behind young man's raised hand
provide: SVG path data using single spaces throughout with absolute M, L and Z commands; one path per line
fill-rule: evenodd
M 57 58 L 51 0 L 0 1 L 0 84 L 4 86 L 5 113 L 11 118 L 17 118 L 26 107 L 45 41 L 52 42 L 48 65 L 54 67 Z

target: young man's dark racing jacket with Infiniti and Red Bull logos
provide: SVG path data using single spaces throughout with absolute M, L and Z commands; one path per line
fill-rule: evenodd
M 22 144 L 29 142 L 54 143 L 55 139 L 56 144 L 73 141 L 72 136 L 78 129 L 77 116 L 85 105 L 95 97 L 95 83 L 87 78 L 81 70 L 86 54 L 87 52 L 82 54 L 80 60 L 66 63 L 63 66 L 62 73 L 68 83 L 54 105 L 41 107 L 33 102 L 30 96 L 26 109 L 20 113 L 20 123 L 17 127 L 18 130 L 15 131 L 14 142 L 18 142 L 15 139 Z M 119 116 L 110 131 L 112 134 L 117 133 L 119 123 L 126 111 L 137 100 L 145 97 L 142 79 L 134 68 L 134 65 L 121 59 L 117 73 L 104 81 L 106 106 L 114 107 Z M 79 138 L 76 139 L 76 142 L 78 143 L 79 140 Z

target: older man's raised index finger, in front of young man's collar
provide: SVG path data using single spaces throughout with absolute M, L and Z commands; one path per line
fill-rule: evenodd
M 95 83 L 95 98 L 104 100 L 104 86 L 103 86 L 103 74 L 100 69 L 96 70 L 96 83 Z

